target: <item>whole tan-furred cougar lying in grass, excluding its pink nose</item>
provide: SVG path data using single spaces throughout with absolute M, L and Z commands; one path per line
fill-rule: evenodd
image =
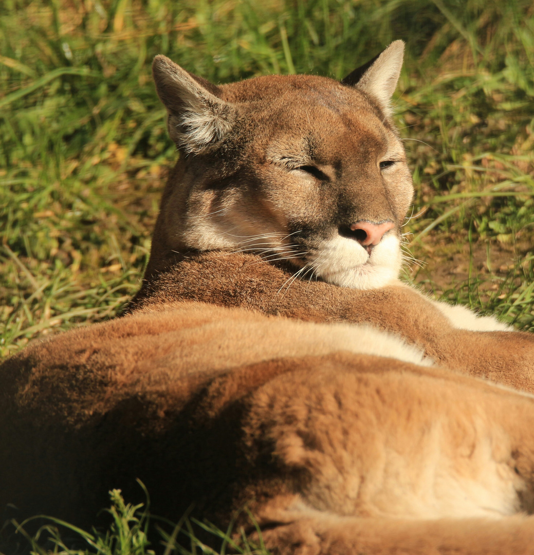
M 2 506 L 87 524 L 140 478 L 280 555 L 534 553 L 532 336 L 397 280 L 401 61 L 216 87 L 155 59 L 183 156 L 142 289 L 2 365 Z M 394 225 L 366 249 L 361 220 Z

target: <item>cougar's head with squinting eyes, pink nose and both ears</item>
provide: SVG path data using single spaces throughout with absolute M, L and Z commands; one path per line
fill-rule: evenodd
M 359 289 L 395 280 L 413 193 L 389 108 L 402 52 L 392 43 L 341 83 L 272 75 L 220 87 L 156 57 L 181 160 L 155 251 L 255 251 Z

